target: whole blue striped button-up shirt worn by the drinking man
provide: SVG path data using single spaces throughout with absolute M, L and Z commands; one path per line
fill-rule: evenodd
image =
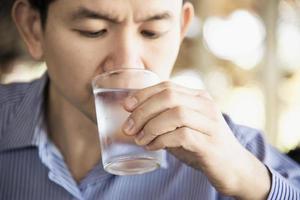
M 137 176 L 108 174 L 99 163 L 77 184 L 45 131 L 47 81 L 44 76 L 32 83 L 0 85 L 1 200 L 232 199 L 219 194 L 203 173 L 170 154 L 167 167 Z M 268 199 L 300 200 L 299 166 L 266 144 L 259 131 L 224 117 L 239 142 L 270 170 Z

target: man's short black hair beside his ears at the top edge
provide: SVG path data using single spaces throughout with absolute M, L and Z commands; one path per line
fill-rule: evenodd
M 55 0 L 28 0 L 28 1 L 34 9 L 39 11 L 42 25 L 45 26 L 47 21 L 49 5 L 53 3 Z M 183 0 L 183 3 L 187 1 L 189 0 Z

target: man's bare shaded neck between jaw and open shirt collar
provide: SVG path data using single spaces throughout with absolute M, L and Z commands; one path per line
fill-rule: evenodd
M 46 120 L 48 134 L 79 182 L 101 158 L 97 126 L 67 101 L 50 82 Z

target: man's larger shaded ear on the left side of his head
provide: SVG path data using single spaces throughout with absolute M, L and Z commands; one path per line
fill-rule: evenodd
M 12 18 L 30 55 L 35 60 L 41 60 L 43 28 L 38 11 L 27 0 L 16 0 L 12 8 Z

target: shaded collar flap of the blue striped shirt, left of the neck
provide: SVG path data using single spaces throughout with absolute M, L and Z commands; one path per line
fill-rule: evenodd
M 29 83 L 26 94 L 16 106 L 10 124 L 0 140 L 0 151 L 36 146 L 33 142 L 34 131 L 42 114 L 47 83 L 47 73 Z

